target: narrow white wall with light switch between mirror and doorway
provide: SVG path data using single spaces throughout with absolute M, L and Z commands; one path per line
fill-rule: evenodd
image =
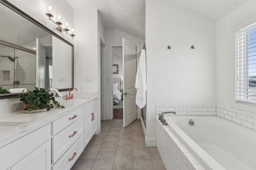
M 83 92 L 98 92 L 98 12 L 96 9 L 75 10 L 76 26 L 74 86 Z M 84 21 L 84 22 L 81 22 Z M 85 82 L 85 77 L 92 82 Z

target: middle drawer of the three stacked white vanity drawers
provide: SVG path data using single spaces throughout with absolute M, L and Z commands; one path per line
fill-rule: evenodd
M 55 163 L 83 132 L 84 117 L 80 117 L 77 121 L 52 137 L 52 163 Z

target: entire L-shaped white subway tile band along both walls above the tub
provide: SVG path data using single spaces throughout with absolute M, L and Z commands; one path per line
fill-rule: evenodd
M 162 111 L 175 111 L 164 116 L 193 116 L 193 115 L 217 115 L 250 129 L 256 130 L 256 113 L 236 107 L 230 107 L 215 103 L 156 103 L 156 115 Z

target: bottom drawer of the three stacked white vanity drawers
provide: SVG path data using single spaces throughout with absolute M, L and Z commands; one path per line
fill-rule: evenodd
M 62 157 L 52 166 L 52 170 L 70 170 L 82 151 L 84 150 L 84 135 L 65 152 Z

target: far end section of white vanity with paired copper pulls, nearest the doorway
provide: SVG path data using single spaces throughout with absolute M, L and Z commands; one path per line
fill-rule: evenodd
M 84 147 L 92 139 L 93 135 L 96 133 L 97 124 L 97 100 L 86 104 L 84 106 Z

